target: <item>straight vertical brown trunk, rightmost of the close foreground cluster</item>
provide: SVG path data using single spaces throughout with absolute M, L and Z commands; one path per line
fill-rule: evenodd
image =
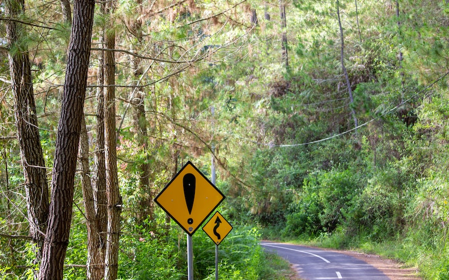
M 113 13 L 115 1 L 107 3 L 107 12 Z M 115 31 L 110 29 L 105 36 L 106 48 L 115 48 Z M 115 59 L 114 51 L 105 52 L 105 143 L 106 143 L 106 195 L 108 198 L 108 227 L 106 235 L 105 280 L 117 278 L 118 240 L 120 231 L 121 198 L 117 178 L 117 151 L 115 125 Z

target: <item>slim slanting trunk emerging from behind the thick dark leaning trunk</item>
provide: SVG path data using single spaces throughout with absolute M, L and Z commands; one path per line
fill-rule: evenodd
M 83 201 L 87 227 L 87 279 L 101 280 L 104 276 L 104 254 L 100 252 L 102 240 L 100 239 L 98 222 L 96 220 L 95 202 L 93 197 L 92 181 L 89 168 L 89 142 L 87 137 L 86 121 L 81 119 L 80 135 L 80 169 L 81 185 L 83 188 Z

